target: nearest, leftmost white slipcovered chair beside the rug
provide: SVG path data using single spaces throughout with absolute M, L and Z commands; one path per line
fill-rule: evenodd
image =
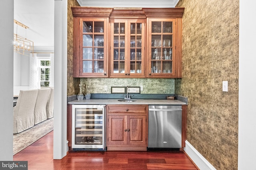
M 20 90 L 13 108 L 13 133 L 20 133 L 34 126 L 34 109 L 38 90 Z

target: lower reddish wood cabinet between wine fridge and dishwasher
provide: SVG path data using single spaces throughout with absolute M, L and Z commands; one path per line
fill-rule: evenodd
M 148 105 L 108 105 L 107 150 L 147 150 Z

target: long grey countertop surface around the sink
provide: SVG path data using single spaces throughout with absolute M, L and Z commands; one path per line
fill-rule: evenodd
M 136 102 L 119 102 L 118 99 L 90 99 L 90 100 L 73 100 L 68 104 L 146 104 L 146 105 L 184 105 L 186 103 L 180 100 L 160 100 L 160 99 L 135 99 Z

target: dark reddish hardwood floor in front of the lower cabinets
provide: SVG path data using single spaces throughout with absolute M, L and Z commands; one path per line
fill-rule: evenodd
M 53 160 L 53 131 L 13 156 L 28 161 L 28 170 L 197 170 L 182 151 L 79 151 Z

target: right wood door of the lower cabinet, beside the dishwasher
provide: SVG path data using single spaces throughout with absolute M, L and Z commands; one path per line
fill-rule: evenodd
M 128 145 L 146 145 L 146 115 L 128 116 Z

